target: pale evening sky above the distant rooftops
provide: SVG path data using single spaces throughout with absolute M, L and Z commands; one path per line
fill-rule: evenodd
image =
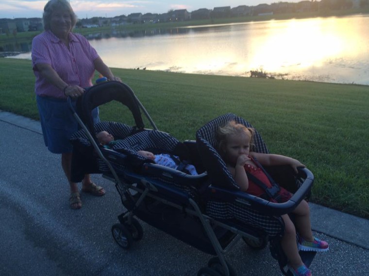
M 186 9 L 192 12 L 201 8 L 273 3 L 280 0 L 69 0 L 78 18 L 94 16 L 114 17 L 132 13 L 164 14 L 169 10 Z M 298 0 L 288 0 L 295 2 Z M 0 18 L 42 17 L 47 0 L 1 0 Z

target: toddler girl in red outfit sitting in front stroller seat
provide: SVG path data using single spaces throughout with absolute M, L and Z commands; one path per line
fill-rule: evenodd
M 300 161 L 277 154 L 251 152 L 253 130 L 243 124 L 234 121 L 226 123 L 218 129 L 218 151 L 228 169 L 233 175 L 236 184 L 242 191 L 261 197 L 265 194 L 255 182 L 262 182 L 271 187 L 268 176 L 264 173 L 263 166 L 290 165 L 297 173 L 297 168 L 305 167 Z M 248 174 L 251 177 L 248 177 Z M 291 193 L 283 187 L 279 187 L 278 200 L 269 199 L 274 202 L 285 202 L 291 198 Z M 310 210 L 305 200 L 292 211 L 295 215 L 295 225 L 288 215 L 282 215 L 285 222 L 285 233 L 281 240 L 282 249 L 289 261 L 288 268 L 293 275 L 311 276 L 310 270 L 302 262 L 299 249 L 304 251 L 327 251 L 328 243 L 315 238 L 311 231 Z M 299 232 L 299 242 L 296 242 L 296 230 Z

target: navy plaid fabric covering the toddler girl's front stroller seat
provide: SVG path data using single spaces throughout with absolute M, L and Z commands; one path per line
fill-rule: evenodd
M 216 150 L 216 134 L 218 127 L 229 121 L 235 121 L 247 127 L 252 127 L 252 125 L 244 119 L 233 113 L 227 113 L 202 126 L 196 133 L 196 143 L 203 165 L 212 181 L 212 185 L 238 191 L 239 187 Z M 268 153 L 263 139 L 256 130 L 254 144 L 255 148 L 252 149 L 253 151 Z M 206 212 L 208 215 L 217 219 L 236 219 L 237 221 L 241 221 L 264 231 L 269 236 L 277 236 L 284 231 L 284 223 L 280 216 L 262 214 L 248 204 L 242 204 L 237 201 L 224 202 L 209 199 L 206 204 Z

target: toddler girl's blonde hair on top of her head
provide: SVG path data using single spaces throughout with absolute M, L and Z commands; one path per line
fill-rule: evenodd
M 246 127 L 241 123 L 236 123 L 235 121 L 230 121 L 218 128 L 218 151 L 222 158 L 225 158 L 227 155 L 227 145 L 231 142 L 234 143 L 235 140 L 240 140 L 243 144 L 246 143 L 252 147 L 253 136 L 254 131 L 252 128 Z

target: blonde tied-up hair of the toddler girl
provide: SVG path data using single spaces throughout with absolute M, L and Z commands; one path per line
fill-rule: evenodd
M 251 149 L 254 147 L 253 137 L 254 130 L 251 127 L 246 127 L 241 123 L 236 123 L 235 121 L 230 121 L 223 126 L 220 126 L 217 131 L 217 142 L 218 142 L 218 152 L 220 155 L 224 155 L 224 146 L 227 144 L 227 137 L 230 135 L 240 135 L 246 134 L 250 137 L 250 146 Z

